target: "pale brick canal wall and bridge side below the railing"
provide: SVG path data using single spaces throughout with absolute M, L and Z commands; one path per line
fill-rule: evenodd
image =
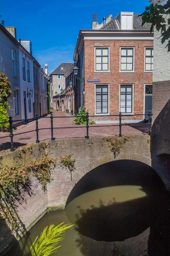
M 47 191 L 44 192 L 38 180 L 32 177 L 32 194 L 23 193 L 25 200 L 16 209 L 23 225 L 29 230 L 47 212 L 48 207 L 64 208 L 75 184 L 86 173 L 101 164 L 114 160 L 128 159 L 140 161 L 151 166 L 149 140 L 150 137 L 146 135 L 128 137 L 127 142 L 123 143 L 120 154 L 116 158 L 111 153 L 106 138 L 56 140 L 50 142 L 48 148 L 44 147 L 44 143 L 36 144 L 33 146 L 32 152 L 27 150 L 26 154 L 20 149 L 1 154 L 1 164 L 3 166 L 14 165 L 16 161 L 20 165 L 25 165 L 30 161 L 39 159 L 45 152 L 48 152 L 49 157 L 57 159 L 56 167 L 52 171 L 53 180 L 48 184 Z M 73 154 L 72 158 L 76 160 L 72 181 L 70 173 L 66 169 L 62 169 L 59 164 L 60 157 L 68 154 Z M 159 173 L 159 170 L 156 171 Z M 161 176 L 161 173 L 159 175 Z M 164 176 L 161 178 L 164 180 Z M 167 186 L 167 184 L 165 185 Z M 6 226 L 1 225 L 0 230 L 0 251 L 2 251 L 14 241 L 14 236 L 11 235 Z

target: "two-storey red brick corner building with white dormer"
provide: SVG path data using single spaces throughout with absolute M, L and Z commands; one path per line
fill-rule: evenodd
M 85 78 L 79 81 L 79 110 L 85 105 L 100 123 L 118 122 L 107 115 L 119 111 L 128 115 L 125 122 L 140 122 L 152 110 L 153 33 L 133 12 L 111 16 L 79 32 L 74 61 Z

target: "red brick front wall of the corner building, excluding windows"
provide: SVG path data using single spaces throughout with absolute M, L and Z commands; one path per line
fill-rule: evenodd
M 94 73 L 94 47 L 102 46 L 110 47 L 110 73 Z M 120 47 L 135 47 L 135 73 L 119 73 Z M 153 47 L 153 41 L 85 40 L 85 108 L 90 115 L 95 114 L 95 83 L 87 82 L 88 79 L 100 79 L 96 84 L 110 84 L 110 115 L 119 114 L 119 84 L 134 84 L 134 114 L 144 113 L 144 84 L 152 84 L 153 78 L 152 73 L 144 73 L 144 47 Z M 127 119 L 143 117 L 130 116 Z

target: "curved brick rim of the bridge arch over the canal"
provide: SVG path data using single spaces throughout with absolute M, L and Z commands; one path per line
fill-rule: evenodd
M 96 160 L 88 163 L 87 165 L 85 165 L 83 170 L 81 170 L 81 172 L 78 171 L 76 174 L 73 174 L 72 181 L 69 181 L 67 183 L 67 185 L 65 186 L 65 191 L 62 193 L 60 201 L 66 205 L 68 196 L 70 195 L 72 189 L 74 188 L 76 183 L 79 182 L 79 180 L 81 180 L 82 177 L 84 177 L 88 172 L 90 172 L 91 170 L 95 169 L 98 166 L 101 166 L 102 164 L 109 163 L 109 162 L 116 161 L 116 160 L 135 160 L 135 161 L 145 163 L 148 166 L 151 166 L 151 159 L 149 157 L 146 157 L 144 155 L 139 155 L 139 154 L 120 153 L 116 157 L 114 157 L 114 154 L 110 154 L 110 155 L 101 157 L 101 158 L 96 159 Z M 158 173 L 158 175 L 159 175 L 159 173 Z M 160 178 L 161 178 L 161 176 L 160 176 Z

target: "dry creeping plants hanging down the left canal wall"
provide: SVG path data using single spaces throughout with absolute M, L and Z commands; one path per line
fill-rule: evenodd
M 14 236 L 20 237 L 20 233 L 26 231 L 15 210 L 18 202 L 24 200 L 22 190 L 31 195 L 31 175 L 37 177 L 42 189 L 45 189 L 51 181 L 51 165 L 55 166 L 55 163 L 55 159 L 42 157 L 26 166 L 6 166 L 0 169 L 0 217 Z

